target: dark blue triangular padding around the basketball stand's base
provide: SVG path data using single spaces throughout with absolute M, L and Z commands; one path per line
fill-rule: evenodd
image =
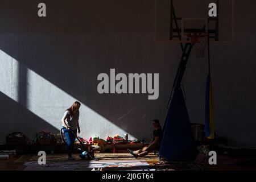
M 164 123 L 159 156 L 169 161 L 191 161 L 195 160 L 196 155 L 196 142 L 192 136 L 183 92 L 180 88 L 175 89 Z

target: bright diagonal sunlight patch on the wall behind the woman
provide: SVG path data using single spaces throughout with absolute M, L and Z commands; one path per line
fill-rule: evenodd
M 19 87 L 19 62 L 13 57 L 0 50 L 0 91 L 14 101 L 18 102 Z M 23 65 L 24 67 L 24 65 Z M 65 109 L 76 101 L 76 98 L 70 96 L 51 82 L 27 68 L 26 107 L 38 117 L 44 119 L 47 123 L 61 128 L 61 118 Z M 17 118 L 18 119 L 18 118 Z M 90 109 L 85 104 L 80 107 L 80 128 L 81 136 L 84 138 L 98 135 L 105 139 L 108 136 L 123 134 L 127 132 L 117 125 L 114 125 L 108 119 L 102 117 L 96 111 Z M 32 130 L 32 129 L 31 129 Z M 43 130 L 43 129 L 42 129 Z M 31 131 L 35 132 L 35 131 Z M 129 134 L 129 133 L 128 133 Z M 129 134 L 130 139 L 134 139 Z

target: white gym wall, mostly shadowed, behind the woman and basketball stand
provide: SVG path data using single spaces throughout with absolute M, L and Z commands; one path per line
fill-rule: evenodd
M 46 19 L 34 16 L 32 1 L 10 1 L 0 9 L 5 22 L 0 26 L 0 142 L 12 131 L 31 139 L 41 129 L 58 132 L 64 110 L 76 100 L 82 103 L 82 137 L 150 137 L 151 119 L 164 122 L 181 55 L 175 43 L 154 42 L 154 1 L 46 3 L 51 13 Z M 62 14 L 68 9 L 73 12 Z M 234 1 L 233 42 L 212 44 L 211 51 L 217 134 L 230 144 L 255 147 L 256 27 L 250 22 L 256 17 L 251 12 L 246 1 Z M 110 68 L 159 73 L 159 99 L 98 94 L 97 75 Z M 206 76 L 207 60 L 192 53 L 183 80 L 191 122 L 204 123 Z

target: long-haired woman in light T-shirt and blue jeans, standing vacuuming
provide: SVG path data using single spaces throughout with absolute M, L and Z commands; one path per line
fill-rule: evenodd
M 76 133 L 80 133 L 80 127 L 79 127 L 79 108 L 81 104 L 80 102 L 74 102 L 71 107 L 69 107 L 67 110 L 65 110 L 65 113 L 63 115 L 63 118 L 61 119 L 63 131 L 65 138 L 67 139 L 67 150 L 68 150 L 68 159 L 69 160 L 75 160 L 72 158 L 72 150 L 74 147 L 75 139 L 76 139 Z M 72 133 L 72 131 L 73 134 Z

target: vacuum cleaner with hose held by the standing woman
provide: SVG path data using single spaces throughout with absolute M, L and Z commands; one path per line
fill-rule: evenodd
M 65 135 L 64 135 L 64 131 L 63 130 L 64 130 L 64 128 L 60 129 L 60 137 L 63 140 L 63 142 L 65 144 L 67 144 L 67 141 L 65 139 Z M 77 137 L 77 135 L 74 133 L 74 131 L 71 130 L 71 129 L 69 129 L 69 131 L 71 131 L 71 133 L 76 137 L 76 139 L 79 141 L 79 143 L 81 144 L 82 148 L 84 149 L 84 151 L 82 151 L 81 154 L 79 155 L 80 158 L 82 160 L 98 160 L 97 158 L 94 157 L 94 151 L 93 150 L 87 151 L 86 147 L 84 146 L 84 143 L 82 143 L 80 141 L 80 139 Z M 81 148 L 79 148 L 79 150 L 81 150 Z

